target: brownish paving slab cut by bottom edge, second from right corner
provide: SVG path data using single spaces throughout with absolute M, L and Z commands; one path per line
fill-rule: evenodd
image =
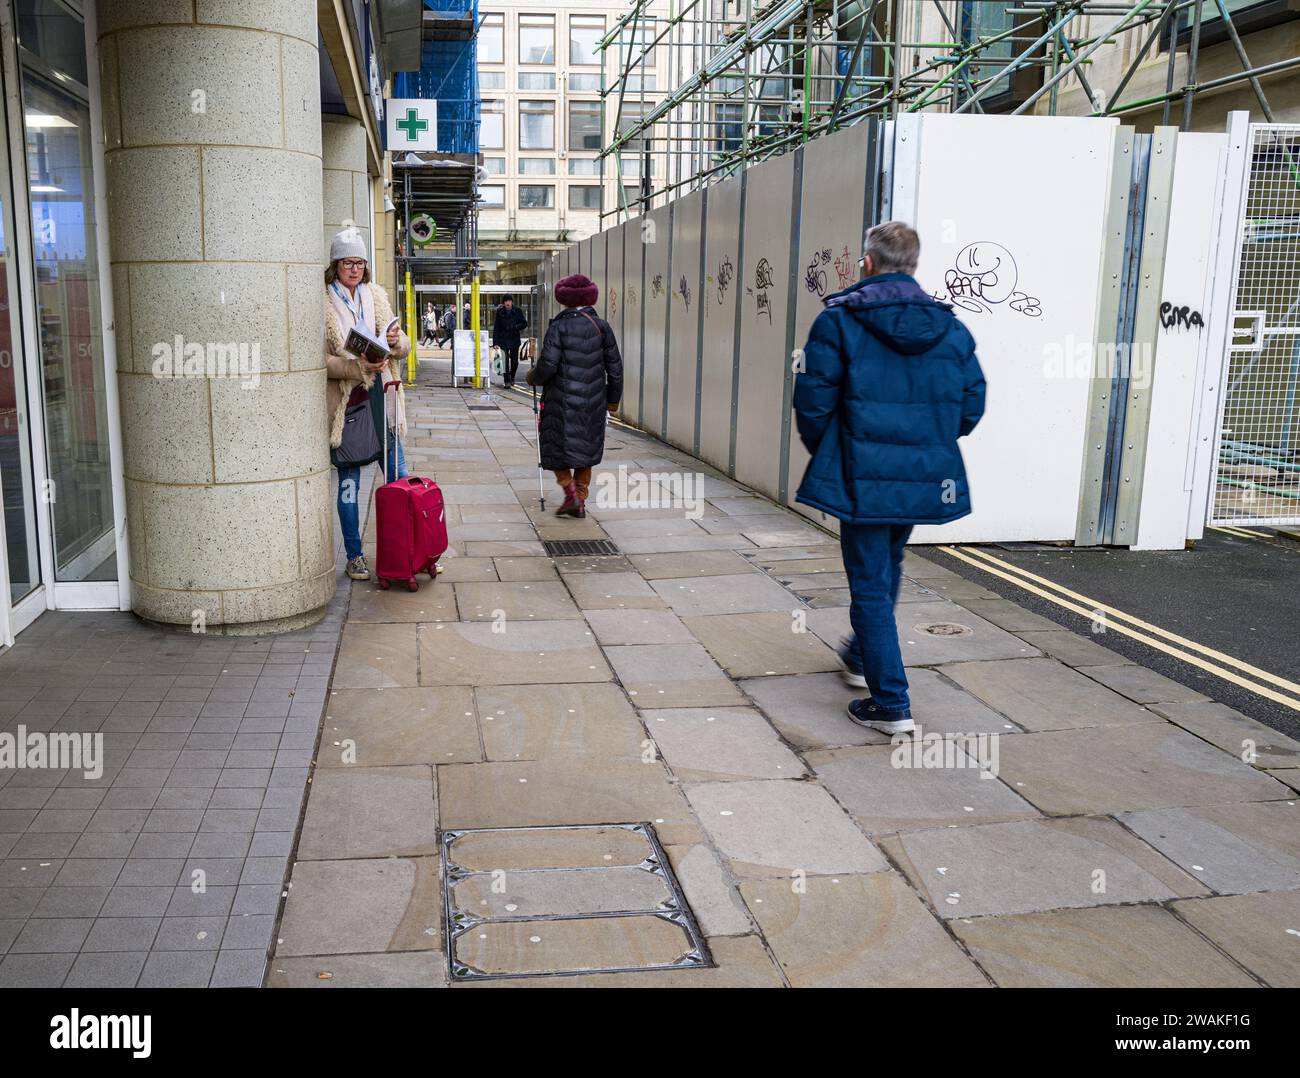
M 949 926 L 1004 988 L 1254 988 L 1160 906 L 958 918 Z

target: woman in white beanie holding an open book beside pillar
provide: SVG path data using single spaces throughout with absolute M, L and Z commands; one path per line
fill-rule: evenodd
M 343 417 L 348 406 L 369 401 L 376 434 L 389 440 L 387 481 L 408 475 L 402 437 L 406 434 L 406 398 L 402 389 L 400 360 L 411 351 L 411 341 L 398 328 L 387 332 L 390 354 L 387 360 L 368 363 L 343 350 L 343 342 L 355 325 L 365 326 L 370 334 L 384 333 L 393 321 L 393 306 L 380 287 L 370 286 L 370 267 L 367 263 L 365 239 L 352 225 L 334 235 L 329 247 L 329 267 L 325 269 L 325 363 L 329 367 L 329 386 L 325 394 L 330 429 L 332 462 L 338 468 L 338 521 L 343 531 L 347 553 L 347 575 L 352 580 L 369 580 L 361 549 L 360 508 L 358 495 L 361 486 L 361 466 L 339 464 L 333 459 L 343 440 Z M 393 384 L 396 382 L 396 389 Z M 389 385 L 387 393 L 384 386 Z

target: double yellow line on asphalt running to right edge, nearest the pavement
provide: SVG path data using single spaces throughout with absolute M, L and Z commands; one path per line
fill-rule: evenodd
M 1197 644 L 1195 640 L 1188 640 L 1187 637 L 1178 636 L 1178 633 L 1162 629 L 1160 625 L 1134 618 L 1131 614 L 1126 614 L 1104 602 L 1097 602 L 1078 592 L 1071 592 L 1069 588 L 1063 588 L 1044 576 L 1032 573 L 1001 558 L 994 558 L 985 550 L 974 546 L 940 546 L 939 549 L 1056 606 L 1093 622 L 1100 620 L 1105 625 L 1106 632 L 1117 632 L 1121 636 L 1138 640 L 1148 648 L 1154 648 L 1157 651 L 1164 651 L 1166 655 L 1213 674 L 1216 677 L 1231 681 L 1234 685 L 1271 700 L 1274 703 L 1280 703 L 1292 711 L 1300 711 L 1300 685 L 1295 681 L 1288 681 L 1286 677 L 1269 674 L 1269 671 L 1251 666 L 1248 662 L 1226 655 L 1213 648 L 1206 648 L 1204 644 Z M 1279 692 L 1279 689 L 1283 692 Z

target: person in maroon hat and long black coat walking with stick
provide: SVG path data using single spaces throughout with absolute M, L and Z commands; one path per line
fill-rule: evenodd
M 528 384 L 542 386 L 541 463 L 564 490 L 556 516 L 586 516 L 592 468 L 604 455 L 604 414 L 623 398 L 623 356 L 614 330 L 592 304 L 595 282 L 581 273 L 555 285 L 566 307 L 546 326 L 542 354 Z

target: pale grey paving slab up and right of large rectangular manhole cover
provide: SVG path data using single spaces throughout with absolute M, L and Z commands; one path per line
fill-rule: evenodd
M 885 860 L 831 796 L 812 783 L 701 783 L 686 788 L 699 817 L 737 876 L 766 879 L 827 873 L 878 873 Z

